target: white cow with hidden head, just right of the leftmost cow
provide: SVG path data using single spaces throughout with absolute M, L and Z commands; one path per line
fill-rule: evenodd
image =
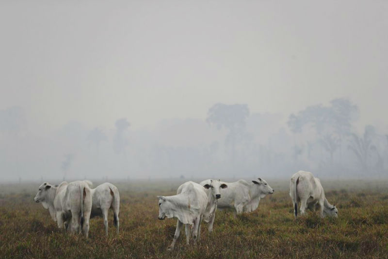
M 113 210 L 113 223 L 116 226 L 116 232 L 119 232 L 120 194 L 117 187 L 111 183 L 103 183 L 97 186 L 92 192 L 92 213 L 91 218 L 102 216 L 104 219 L 105 233 L 108 235 L 108 210 Z

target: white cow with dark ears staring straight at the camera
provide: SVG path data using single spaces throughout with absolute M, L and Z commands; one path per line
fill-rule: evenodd
M 203 220 L 208 223 L 209 233 L 213 231 L 213 224 L 215 218 L 215 212 L 217 210 L 217 201 L 221 198 L 221 189 L 227 188 L 225 183 L 221 183 L 218 180 L 205 180 L 200 183 L 206 190 L 206 194 L 208 195 L 208 205 L 206 207 L 205 215 Z M 179 189 L 178 189 L 179 190 Z M 198 237 L 201 235 L 201 227 L 198 229 Z

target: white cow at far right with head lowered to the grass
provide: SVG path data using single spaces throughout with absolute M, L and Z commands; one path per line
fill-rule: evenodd
M 321 180 L 310 172 L 299 171 L 294 173 L 290 180 L 290 196 L 295 211 L 295 218 L 298 216 L 298 202 L 300 201 L 300 214 L 309 209 L 319 209 L 321 217 L 338 217 L 338 209 L 331 205 L 324 196 Z

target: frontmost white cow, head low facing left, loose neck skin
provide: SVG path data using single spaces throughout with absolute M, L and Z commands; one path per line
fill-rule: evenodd
M 173 250 L 175 242 L 180 233 L 180 228 L 185 224 L 186 243 L 189 244 L 190 225 L 194 243 L 197 241 L 198 228 L 201 225 L 202 219 L 208 205 L 208 196 L 205 188 L 192 181 L 186 182 L 179 186 L 177 195 L 158 196 L 159 198 L 159 219 L 178 218 L 177 229 L 173 242 L 168 247 L 168 250 Z

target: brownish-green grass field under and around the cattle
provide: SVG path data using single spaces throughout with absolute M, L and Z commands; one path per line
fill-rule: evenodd
M 33 202 L 38 183 L 3 184 L 0 258 L 388 258 L 387 181 L 322 181 L 338 219 L 309 212 L 296 221 L 288 181 L 267 181 L 276 191 L 256 211 L 237 218 L 217 211 L 211 235 L 202 223 L 198 245 L 186 246 L 183 230 L 171 252 L 177 221 L 158 220 L 156 195 L 175 194 L 177 181 L 113 182 L 121 196 L 120 234 L 110 212 L 109 237 L 94 218 L 89 239 L 60 231 Z

